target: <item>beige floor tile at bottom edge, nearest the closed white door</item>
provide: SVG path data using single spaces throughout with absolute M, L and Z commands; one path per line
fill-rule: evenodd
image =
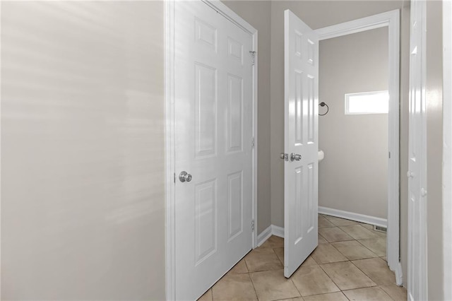
M 257 300 L 249 274 L 227 274 L 212 288 L 213 300 Z

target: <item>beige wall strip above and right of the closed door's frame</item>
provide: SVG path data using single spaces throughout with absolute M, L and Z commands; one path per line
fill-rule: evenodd
M 270 1 L 223 1 L 258 30 L 257 232 L 270 220 Z

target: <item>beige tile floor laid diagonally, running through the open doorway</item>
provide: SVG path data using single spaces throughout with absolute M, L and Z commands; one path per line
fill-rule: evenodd
M 284 240 L 252 250 L 199 300 L 407 300 L 386 264 L 386 233 L 319 215 L 319 247 L 286 279 Z

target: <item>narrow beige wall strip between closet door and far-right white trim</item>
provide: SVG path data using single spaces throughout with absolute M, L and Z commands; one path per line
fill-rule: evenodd
M 443 290 L 443 24 L 441 1 L 427 1 L 427 262 L 429 300 Z

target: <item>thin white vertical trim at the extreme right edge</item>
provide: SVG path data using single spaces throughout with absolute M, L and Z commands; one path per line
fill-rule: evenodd
M 452 1 L 443 1 L 444 300 L 452 300 Z

